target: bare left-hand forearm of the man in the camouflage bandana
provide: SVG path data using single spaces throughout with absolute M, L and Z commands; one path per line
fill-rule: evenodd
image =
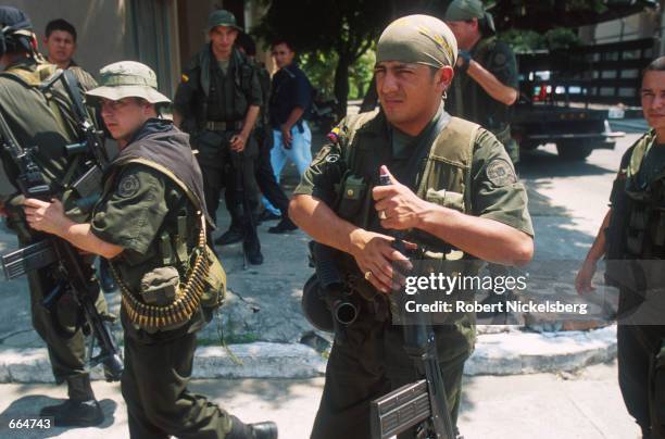
M 289 203 L 289 217 L 315 241 L 349 254 L 362 246 L 361 227 L 340 218 L 326 203 L 312 196 L 297 195 Z

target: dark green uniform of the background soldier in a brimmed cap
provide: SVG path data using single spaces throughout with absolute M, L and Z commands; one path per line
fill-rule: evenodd
M 233 50 L 228 64 L 223 65 L 213 55 L 211 45 L 206 45 L 183 74 L 174 106 L 183 116 L 183 129 L 191 135 L 192 148 L 199 151 L 205 202 L 215 221 L 224 188 L 238 193 L 230 198 L 235 205 L 227 205 L 231 213 L 242 211 L 242 190 L 251 211 L 255 213 L 259 208 L 254 178 L 259 147 L 254 135 L 250 135 L 240 154 L 230 151 L 229 142 L 240 133 L 249 106 L 261 104 L 258 68 L 237 49 Z M 238 187 L 239 173 L 242 188 Z M 243 222 L 243 227 L 251 227 L 248 218 Z M 249 231 L 255 234 L 255 225 Z

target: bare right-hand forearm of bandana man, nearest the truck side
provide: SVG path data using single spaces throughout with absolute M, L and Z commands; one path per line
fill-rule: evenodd
M 498 221 L 429 203 L 417 228 L 488 262 L 524 265 L 534 256 L 534 238 Z

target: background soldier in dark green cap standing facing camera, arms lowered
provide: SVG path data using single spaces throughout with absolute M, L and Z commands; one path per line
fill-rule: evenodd
M 242 32 L 234 14 L 214 11 L 208 29 L 210 42 L 181 76 L 174 99 L 174 122 L 191 135 L 192 147 L 199 151 L 211 216 L 216 222 L 222 189 L 235 192 L 227 209 L 231 217 L 240 218 L 247 259 L 260 265 L 263 255 L 254 216 L 259 209 L 254 177 L 259 147 L 253 134 L 263 103 L 259 72 L 234 47 Z

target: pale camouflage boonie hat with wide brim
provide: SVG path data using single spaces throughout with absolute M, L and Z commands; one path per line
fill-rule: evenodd
M 150 103 L 171 102 L 158 91 L 152 68 L 136 61 L 121 61 L 103 67 L 99 71 L 99 87 L 87 91 L 86 96 L 112 101 L 131 97 Z

